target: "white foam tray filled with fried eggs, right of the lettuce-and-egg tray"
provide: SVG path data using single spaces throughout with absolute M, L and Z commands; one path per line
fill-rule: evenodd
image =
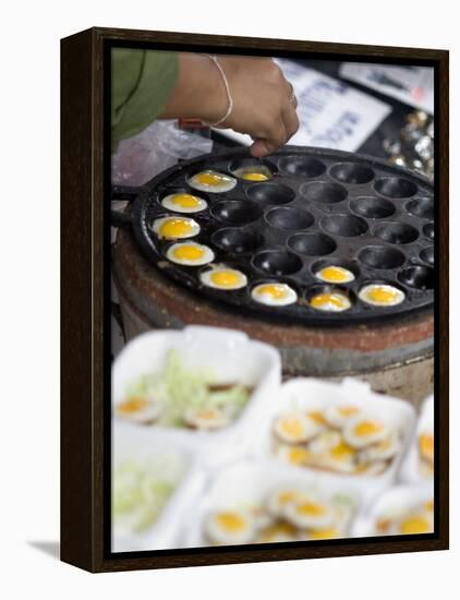
M 362 480 L 372 497 L 395 481 L 414 427 L 409 403 L 366 383 L 299 377 L 281 386 L 261 452 L 298 470 Z

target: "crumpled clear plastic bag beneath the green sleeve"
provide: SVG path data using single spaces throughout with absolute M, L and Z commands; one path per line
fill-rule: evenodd
M 112 155 L 112 183 L 143 185 L 179 159 L 207 154 L 213 141 L 178 128 L 177 121 L 155 121 L 144 131 L 122 140 Z

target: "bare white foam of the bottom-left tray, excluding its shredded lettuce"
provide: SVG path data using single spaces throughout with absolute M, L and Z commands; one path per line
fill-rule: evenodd
M 181 523 L 190 504 L 197 499 L 205 484 L 205 473 L 196 468 L 196 456 L 186 440 L 174 440 L 162 431 L 146 431 L 131 423 L 112 423 L 112 473 L 117 465 L 133 460 L 166 461 L 168 468 L 180 473 L 178 485 L 155 524 L 142 533 L 131 533 L 112 525 L 112 552 L 159 550 L 177 548 Z M 170 467 L 169 467 L 170 466 Z

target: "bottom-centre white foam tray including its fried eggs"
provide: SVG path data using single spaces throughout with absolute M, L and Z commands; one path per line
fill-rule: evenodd
M 181 544 L 233 545 L 348 537 L 364 487 L 275 460 L 235 463 L 216 473 Z

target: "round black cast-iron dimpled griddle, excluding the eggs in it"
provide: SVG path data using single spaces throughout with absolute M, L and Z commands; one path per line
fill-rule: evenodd
M 273 178 L 267 182 L 238 179 L 222 193 L 193 190 L 187 179 L 213 169 L 233 175 L 234 169 L 261 165 L 247 149 L 208 154 L 167 169 L 141 188 L 131 189 L 131 212 L 112 212 L 112 224 L 132 228 L 140 249 L 177 284 L 220 307 L 268 319 L 305 325 L 378 322 L 433 309 L 435 204 L 433 187 L 422 176 L 368 156 L 325 148 L 285 146 L 262 159 Z M 199 224 L 194 241 L 216 254 L 214 264 L 242 271 L 247 286 L 216 290 L 204 286 L 204 267 L 181 266 L 166 259 L 173 241 L 158 239 L 150 226 L 161 216 L 174 215 L 161 205 L 166 195 L 187 192 L 207 201 L 208 207 L 191 217 Z M 113 189 L 113 197 L 126 197 Z M 351 271 L 350 284 L 331 286 L 315 277 L 318 266 L 334 264 Z M 267 307 L 251 297 L 254 285 L 289 284 L 299 296 L 294 304 Z M 374 307 L 358 298 L 362 286 L 385 283 L 405 295 L 395 307 Z M 352 308 L 338 313 L 308 305 L 318 291 L 343 290 Z

